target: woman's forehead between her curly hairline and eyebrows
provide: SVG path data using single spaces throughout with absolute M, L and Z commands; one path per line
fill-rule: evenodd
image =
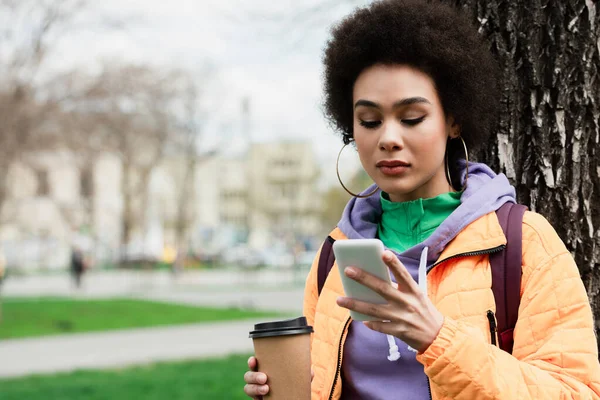
M 433 79 L 408 65 L 374 65 L 363 70 L 354 83 L 353 100 L 380 103 L 421 96 L 437 102 Z

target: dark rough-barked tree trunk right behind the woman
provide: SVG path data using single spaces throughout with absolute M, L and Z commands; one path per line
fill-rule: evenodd
M 543 214 L 579 267 L 600 332 L 600 3 L 455 0 L 505 73 L 497 141 L 479 154 Z M 600 347 L 600 339 L 599 339 Z

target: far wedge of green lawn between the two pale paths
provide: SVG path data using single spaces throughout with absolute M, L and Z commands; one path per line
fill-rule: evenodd
M 144 300 L 4 299 L 0 339 L 282 315 Z

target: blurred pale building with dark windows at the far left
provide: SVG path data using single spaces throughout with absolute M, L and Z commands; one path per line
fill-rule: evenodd
M 112 257 L 119 245 L 118 162 L 100 154 L 85 165 L 68 151 L 54 151 L 11 166 L 0 224 L 9 265 L 64 267 L 73 245 Z

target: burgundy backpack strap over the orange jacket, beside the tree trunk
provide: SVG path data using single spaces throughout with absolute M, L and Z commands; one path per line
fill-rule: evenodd
M 521 303 L 522 228 L 526 210 L 527 207 L 523 205 L 505 203 L 496 211 L 506 236 L 506 247 L 490 255 L 499 347 L 508 353 L 513 350 L 513 330 Z

